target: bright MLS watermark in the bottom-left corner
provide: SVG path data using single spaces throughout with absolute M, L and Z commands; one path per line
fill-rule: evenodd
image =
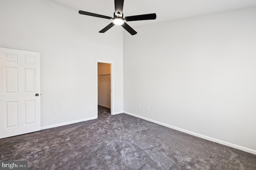
M 0 170 L 28 170 L 28 161 L 0 161 Z

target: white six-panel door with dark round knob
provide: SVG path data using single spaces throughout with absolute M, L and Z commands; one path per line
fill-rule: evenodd
M 40 53 L 0 48 L 0 138 L 40 126 Z

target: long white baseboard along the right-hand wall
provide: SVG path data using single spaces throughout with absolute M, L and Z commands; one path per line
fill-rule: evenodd
M 205 136 L 205 135 L 202 135 L 202 134 L 198 134 L 198 133 L 195 133 L 195 132 L 191 132 L 189 130 L 185 130 L 185 129 L 182 129 L 182 128 L 178 128 L 178 127 L 174 127 L 172 125 L 168 125 L 166 123 L 162 123 L 162 122 L 158 122 L 158 121 L 154 121 L 152 119 L 148 119 L 146 117 L 142 117 L 142 116 L 139 116 L 139 115 L 135 115 L 135 114 L 132 114 L 132 113 L 129 113 L 129 112 L 126 112 L 124 111 L 124 113 L 126 113 L 127 115 L 131 115 L 131 116 L 134 116 L 134 117 L 138 117 L 140 119 L 144 119 L 146 121 L 150 121 L 150 122 L 153 122 L 153 123 L 156 123 L 158 125 L 162 125 L 162 126 L 165 126 L 165 127 L 168 127 L 168 128 L 172 128 L 172 129 L 175 129 L 175 130 L 178 130 L 180 132 L 184 132 L 184 133 L 187 133 L 187 134 L 191 134 L 193 136 L 197 136 L 199 138 L 203 138 L 203 139 L 206 139 L 206 140 L 210 140 L 212 142 L 216 142 L 216 143 L 219 143 L 219 144 L 223 144 L 223 145 L 226 145 L 226 146 L 230 146 L 232 148 L 236 148 L 236 149 L 239 149 L 239 150 L 243 150 L 245 152 L 249 152 L 249 153 L 252 153 L 252 154 L 256 154 L 256 150 L 253 150 L 253 149 L 250 149 L 250 148 L 246 148 L 244 146 L 239 146 L 239 145 L 236 145 L 236 144 L 232 144 L 232 143 L 229 143 L 229 142 L 225 142 L 223 140 L 218 140 L 216 138 L 212 138 L 212 137 L 209 137 L 209 136 Z

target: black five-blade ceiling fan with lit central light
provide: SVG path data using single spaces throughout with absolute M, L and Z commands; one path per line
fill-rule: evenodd
M 136 16 L 126 16 L 124 18 L 123 14 L 123 6 L 124 6 L 124 0 L 115 0 L 115 12 L 114 12 L 114 17 L 110 16 L 104 16 L 100 14 L 94 14 L 91 12 L 85 12 L 85 11 L 79 11 L 79 14 L 83 15 L 88 15 L 88 16 L 95 16 L 99 18 L 106 18 L 106 19 L 113 19 L 114 21 L 110 23 L 108 26 L 100 30 L 100 33 L 104 33 L 108 31 L 112 26 L 114 25 L 121 25 L 126 31 L 128 31 L 132 36 L 137 34 L 137 32 L 132 29 L 126 22 L 124 21 L 140 21 L 140 20 L 155 20 L 156 19 L 156 14 L 144 14 L 144 15 L 136 15 Z

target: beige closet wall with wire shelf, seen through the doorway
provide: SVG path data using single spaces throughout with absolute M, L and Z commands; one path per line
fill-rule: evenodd
M 98 63 L 98 75 L 111 74 L 111 64 Z M 111 75 L 98 77 L 98 105 L 111 108 Z

